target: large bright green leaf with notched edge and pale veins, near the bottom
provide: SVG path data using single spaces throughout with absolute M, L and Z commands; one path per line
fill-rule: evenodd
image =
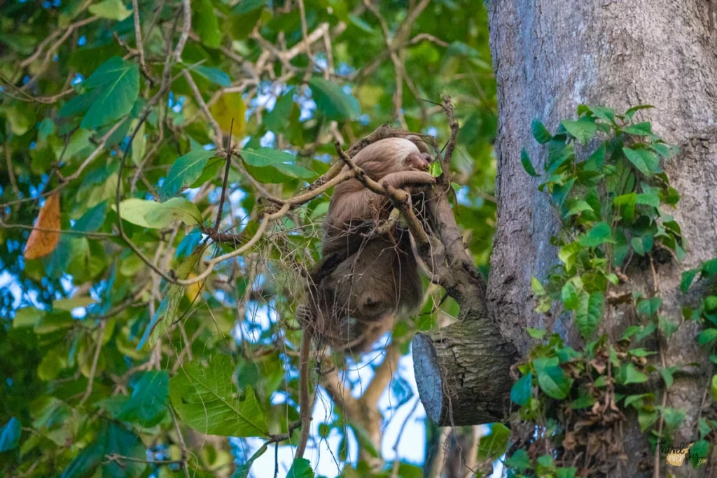
M 169 385 L 174 409 L 186 425 L 204 434 L 267 436 L 267 423 L 254 391 L 247 387 L 244 400 L 239 400 L 233 373 L 227 355 L 215 356 L 206 368 L 201 360 L 184 363 Z

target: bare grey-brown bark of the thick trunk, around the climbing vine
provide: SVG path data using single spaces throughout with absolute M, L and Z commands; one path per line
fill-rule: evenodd
M 538 118 L 555 130 L 559 120 L 574 117 L 580 103 L 617 110 L 649 104 L 656 108 L 638 117 L 680 146 L 680 155 L 664 168 L 682 195 L 675 217 L 688 247 L 683 262 L 656 264 L 657 294 L 665 300 L 661 313 L 680 322 L 663 350 L 668 366 L 707 363 L 695 344 L 697 325 L 680 316 L 684 297 L 678 285 L 680 272 L 714 257 L 717 247 L 717 33 L 711 30 L 710 3 L 493 0 L 488 14 L 499 121 L 498 230 L 487 298 L 503 335 L 521 355 L 526 353 L 526 327 L 544 326 L 533 312 L 531 276 L 544 279 L 556 263 L 556 250 L 549 244 L 556 216 L 538 192 L 538 180 L 523 171 L 519 159 L 523 147 L 534 162 L 546 156 L 531 138 L 531 120 Z M 635 264 L 627 274 L 638 290 L 652 290 L 649 263 Z M 618 320 L 616 329 L 625 325 Z M 554 327 L 579 345 L 569 321 L 558 320 Z M 678 378 L 668 391 L 667 405 L 687 412 L 681 436 L 673 437 L 678 443 L 698 438 L 696 420 L 707 373 L 704 367 Z M 662 391 L 656 392 L 660 397 Z M 651 467 L 645 436 L 639 429 L 633 433 L 635 426 L 633 421 L 625 430 L 635 437 L 625 444 L 630 460 L 610 476 L 644 476 L 640 467 Z

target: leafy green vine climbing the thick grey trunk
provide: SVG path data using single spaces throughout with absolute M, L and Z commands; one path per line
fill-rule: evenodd
M 523 149 L 521 163 L 528 174 L 543 179 L 538 190 L 559 216 L 559 231 L 551 238 L 559 264 L 542 280 L 532 279 L 545 328 L 528 329 L 537 343 L 515 367 L 511 401 L 518 411 L 505 461 L 508 476 L 609 474 L 600 463 L 609 454 L 625 454 L 627 416 L 637 416 L 652 446 L 664 446 L 685 419 L 684 411 L 665 405 L 680 367 L 665 365 L 662 348 L 679 324 L 660 313 L 655 272 L 655 263 L 685 257 L 680 225 L 669 214 L 680 195 L 660 168 L 677 148 L 649 122 L 635 120 L 649 107 L 618 114 L 609 107 L 580 105 L 578 118 L 562 121 L 555 133 L 533 121 L 533 137 L 547 148 L 547 159 L 537 173 Z M 630 270 L 652 271 L 651 290 L 637 290 L 630 282 L 630 264 Z M 717 261 L 685 272 L 683 292 L 698 273 L 714 279 Z M 717 343 L 716 296 L 683 312 L 686 319 L 711 326 L 698 338 L 701 344 Z M 612 321 L 626 315 L 634 325 L 615 334 Z M 558 317 L 569 317 L 584 339 L 579 350 L 554 331 Z M 717 355 L 712 358 L 717 363 Z M 654 393 L 660 381 L 661 402 Z M 713 391 L 717 376 L 714 383 Z M 711 431 L 711 422 L 702 419 L 701 439 L 690 457 L 706 457 L 704 437 Z

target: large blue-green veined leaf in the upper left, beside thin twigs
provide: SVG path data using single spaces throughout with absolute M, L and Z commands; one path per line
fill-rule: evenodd
M 80 126 L 98 128 L 132 110 L 139 94 L 139 69 L 136 63 L 112 57 L 101 64 L 84 85 L 85 88 L 97 88 L 98 95 Z

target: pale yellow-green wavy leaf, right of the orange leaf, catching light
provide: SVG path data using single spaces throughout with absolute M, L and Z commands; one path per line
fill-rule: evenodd
M 114 205 L 112 207 L 115 209 Z M 120 203 L 120 214 L 125 221 L 149 229 L 162 229 L 173 221 L 189 225 L 201 224 L 199 209 L 184 198 L 172 198 L 163 203 L 137 198 L 125 199 Z

